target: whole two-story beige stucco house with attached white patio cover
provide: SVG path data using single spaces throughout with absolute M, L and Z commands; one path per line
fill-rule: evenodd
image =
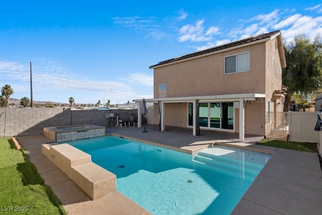
M 283 111 L 286 66 L 281 32 L 256 35 L 161 61 L 154 77 L 153 124 L 265 135 Z M 142 100 L 133 100 L 139 105 Z M 140 126 L 139 117 L 138 126 Z

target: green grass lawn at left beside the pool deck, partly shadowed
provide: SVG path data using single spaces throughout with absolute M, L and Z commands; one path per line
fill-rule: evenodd
M 23 150 L 0 138 L 0 213 L 66 214 Z

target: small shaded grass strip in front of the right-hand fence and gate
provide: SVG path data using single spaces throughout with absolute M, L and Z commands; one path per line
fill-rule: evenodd
M 317 153 L 316 144 L 312 144 L 310 142 L 290 142 L 275 139 L 263 139 L 258 143 L 258 145 Z

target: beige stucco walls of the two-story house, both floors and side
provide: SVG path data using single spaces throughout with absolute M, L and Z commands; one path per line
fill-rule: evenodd
M 265 101 L 244 103 L 246 133 L 265 135 L 268 102 L 274 90 L 281 90 L 282 74 L 276 39 L 232 49 L 204 57 L 154 68 L 154 98 L 159 98 L 159 84 L 167 85 L 167 98 L 228 94 L 266 94 Z M 224 74 L 225 56 L 250 52 L 250 71 Z M 273 59 L 275 75 L 273 76 Z M 282 101 L 281 101 L 282 102 Z M 274 104 L 273 107 L 276 107 Z M 281 104 L 280 107 L 283 107 Z M 154 104 L 154 124 L 158 124 Z M 188 127 L 187 103 L 165 104 L 165 125 Z M 280 108 L 282 111 L 282 108 Z M 235 132 L 239 132 L 239 109 L 234 109 Z

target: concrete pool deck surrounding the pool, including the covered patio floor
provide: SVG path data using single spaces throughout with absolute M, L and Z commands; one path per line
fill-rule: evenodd
M 255 145 L 262 137 L 252 135 L 246 135 L 245 142 L 238 142 L 236 133 L 201 130 L 201 136 L 193 136 L 192 129 L 166 127 L 166 131 L 158 131 L 155 125 L 146 125 L 148 132 L 142 130 L 144 128 L 126 127 L 106 129 L 106 133 L 181 151 L 196 152 L 220 142 L 274 153 L 232 214 L 320 214 L 322 211 L 322 171 L 314 153 Z M 52 142 L 51 139 L 44 135 L 16 138 L 68 214 L 149 214 L 132 201 L 124 201 L 124 196 L 118 192 L 92 200 L 41 154 L 41 145 Z

